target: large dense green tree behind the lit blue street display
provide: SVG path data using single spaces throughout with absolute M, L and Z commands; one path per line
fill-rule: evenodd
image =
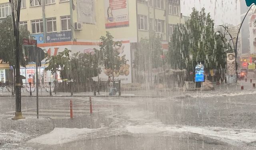
M 192 8 L 190 19 L 178 24 L 169 45 L 168 62 L 172 68 L 192 70 L 193 61 L 204 61 L 206 70 L 226 64 L 225 39 L 214 31 L 214 20 L 205 9 Z

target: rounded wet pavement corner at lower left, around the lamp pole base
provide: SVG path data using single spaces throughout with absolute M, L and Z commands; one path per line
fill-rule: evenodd
M 17 144 L 51 132 L 54 123 L 51 118 L 25 118 L 12 120 L 4 115 L 0 120 L 0 147 L 4 144 Z

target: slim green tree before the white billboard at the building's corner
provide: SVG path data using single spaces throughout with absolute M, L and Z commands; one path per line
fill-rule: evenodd
M 125 55 L 119 56 L 119 49 L 122 46 L 122 42 L 114 41 L 114 37 L 107 31 L 106 36 L 100 37 L 100 54 L 101 63 L 104 64 L 105 72 L 107 75 L 111 75 L 114 82 L 115 74 L 120 74 L 120 68 L 126 64 L 128 60 L 126 60 Z

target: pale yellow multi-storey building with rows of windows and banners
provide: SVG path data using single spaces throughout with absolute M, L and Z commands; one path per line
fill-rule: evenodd
M 8 0 L 0 0 L 0 19 L 10 15 L 10 9 Z M 131 83 L 136 43 L 154 30 L 162 37 L 162 48 L 167 49 L 174 26 L 184 23 L 180 14 L 180 0 L 22 0 L 20 26 L 28 28 L 38 47 L 50 55 L 65 48 L 72 53 L 93 52 L 99 48 L 100 36 L 109 31 L 122 41 L 122 55 L 130 65 L 130 74 L 116 80 Z M 26 76 L 23 82 L 34 75 L 34 66 L 21 68 Z M 43 63 L 40 68 L 41 82 L 54 80 L 44 71 L 46 66 Z

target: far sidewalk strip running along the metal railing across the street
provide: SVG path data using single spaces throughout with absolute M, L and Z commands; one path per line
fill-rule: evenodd
M 252 84 L 256 83 L 256 79 L 252 79 L 252 83 L 250 83 L 250 79 L 238 81 L 237 84 L 225 84 L 222 83 L 221 85 L 216 85 L 213 83 L 214 90 L 212 92 L 235 92 L 241 91 L 241 86 L 244 86 L 244 90 L 254 90 Z M 151 97 L 151 98 L 158 98 L 158 97 L 184 97 L 198 91 L 183 91 L 182 88 L 177 88 L 178 90 L 174 91 L 171 88 L 160 88 L 155 90 L 134 90 L 134 91 L 121 91 L 121 96 L 109 96 L 109 92 L 96 92 L 96 96 L 94 96 L 93 92 L 80 92 L 80 93 L 73 93 L 71 96 L 70 92 L 57 92 L 56 94 L 52 92 L 52 96 L 48 92 L 39 92 L 39 97 L 122 97 L 122 98 L 135 98 L 135 97 Z M 211 92 L 211 91 L 202 91 L 204 93 Z M 29 92 L 22 92 L 22 97 L 30 97 Z M 0 96 L 12 96 L 10 92 L 0 92 Z M 15 95 L 14 95 L 15 96 Z M 32 97 L 36 97 L 36 92 L 32 92 Z

